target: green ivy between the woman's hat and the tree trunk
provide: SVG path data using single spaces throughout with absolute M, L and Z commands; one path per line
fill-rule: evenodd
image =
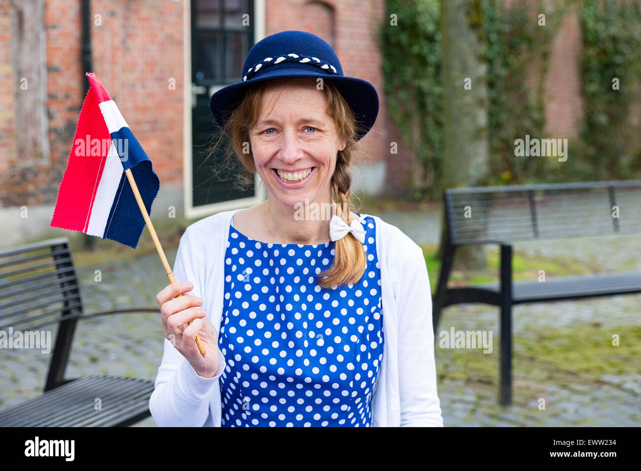
M 383 90 L 399 135 L 419 160 L 410 194 L 438 186 L 443 156 L 439 0 L 387 0 L 381 28 Z M 399 147 L 401 143 L 398 143 Z M 392 149 L 390 149 L 390 152 Z

